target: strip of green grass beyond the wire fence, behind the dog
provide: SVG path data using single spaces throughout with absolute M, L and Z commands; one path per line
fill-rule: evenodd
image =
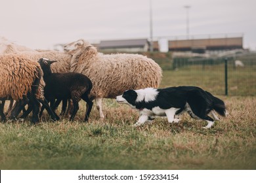
M 228 67 L 228 95 L 254 96 L 256 94 L 256 68 Z M 199 86 L 215 95 L 224 95 L 224 65 L 192 65 L 175 71 L 163 70 L 161 88 L 168 86 Z

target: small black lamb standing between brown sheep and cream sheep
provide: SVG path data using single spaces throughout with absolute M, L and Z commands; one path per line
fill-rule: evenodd
M 87 103 L 85 113 L 86 122 L 93 107 L 93 101 L 89 99 L 89 93 L 93 88 L 91 80 L 80 73 L 52 73 L 50 66 L 56 61 L 41 58 L 38 62 L 43 70 L 45 98 L 51 102 L 53 112 L 55 99 L 62 101 L 72 99 L 74 110 L 70 116 L 70 120 L 74 120 L 75 114 L 79 109 L 78 102 L 83 99 Z M 43 110 L 43 107 L 41 110 Z

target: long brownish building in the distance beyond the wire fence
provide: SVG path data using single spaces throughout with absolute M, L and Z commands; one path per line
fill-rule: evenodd
M 243 37 L 214 39 L 188 39 L 169 41 L 169 51 L 192 51 L 203 53 L 206 50 L 234 50 L 243 48 Z

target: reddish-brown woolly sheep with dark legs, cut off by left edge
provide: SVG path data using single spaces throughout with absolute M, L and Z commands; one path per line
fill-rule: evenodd
M 42 97 L 41 76 L 43 75 L 38 63 L 21 56 L 0 56 L 0 99 L 23 100 L 28 97 L 33 107 L 32 122 L 39 122 L 39 101 Z M 1 119 L 5 120 L 1 106 Z

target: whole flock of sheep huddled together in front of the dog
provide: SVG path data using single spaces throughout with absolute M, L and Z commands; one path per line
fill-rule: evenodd
M 54 110 L 61 101 L 62 114 L 68 103 L 73 120 L 80 99 L 87 103 L 85 121 L 93 100 L 100 118 L 104 118 L 103 98 L 115 98 L 129 89 L 158 88 L 162 76 L 160 66 L 146 56 L 102 54 L 83 39 L 66 44 L 64 52 L 32 50 L 0 42 L 0 68 L 1 120 L 6 120 L 5 114 L 14 120 L 26 118 L 32 112 L 34 124 L 39 122 L 40 106 L 41 112 L 46 108 L 51 118 L 58 120 Z M 4 112 L 6 100 L 11 103 Z M 16 101 L 15 105 L 12 101 Z M 21 110 L 24 113 L 19 116 Z

